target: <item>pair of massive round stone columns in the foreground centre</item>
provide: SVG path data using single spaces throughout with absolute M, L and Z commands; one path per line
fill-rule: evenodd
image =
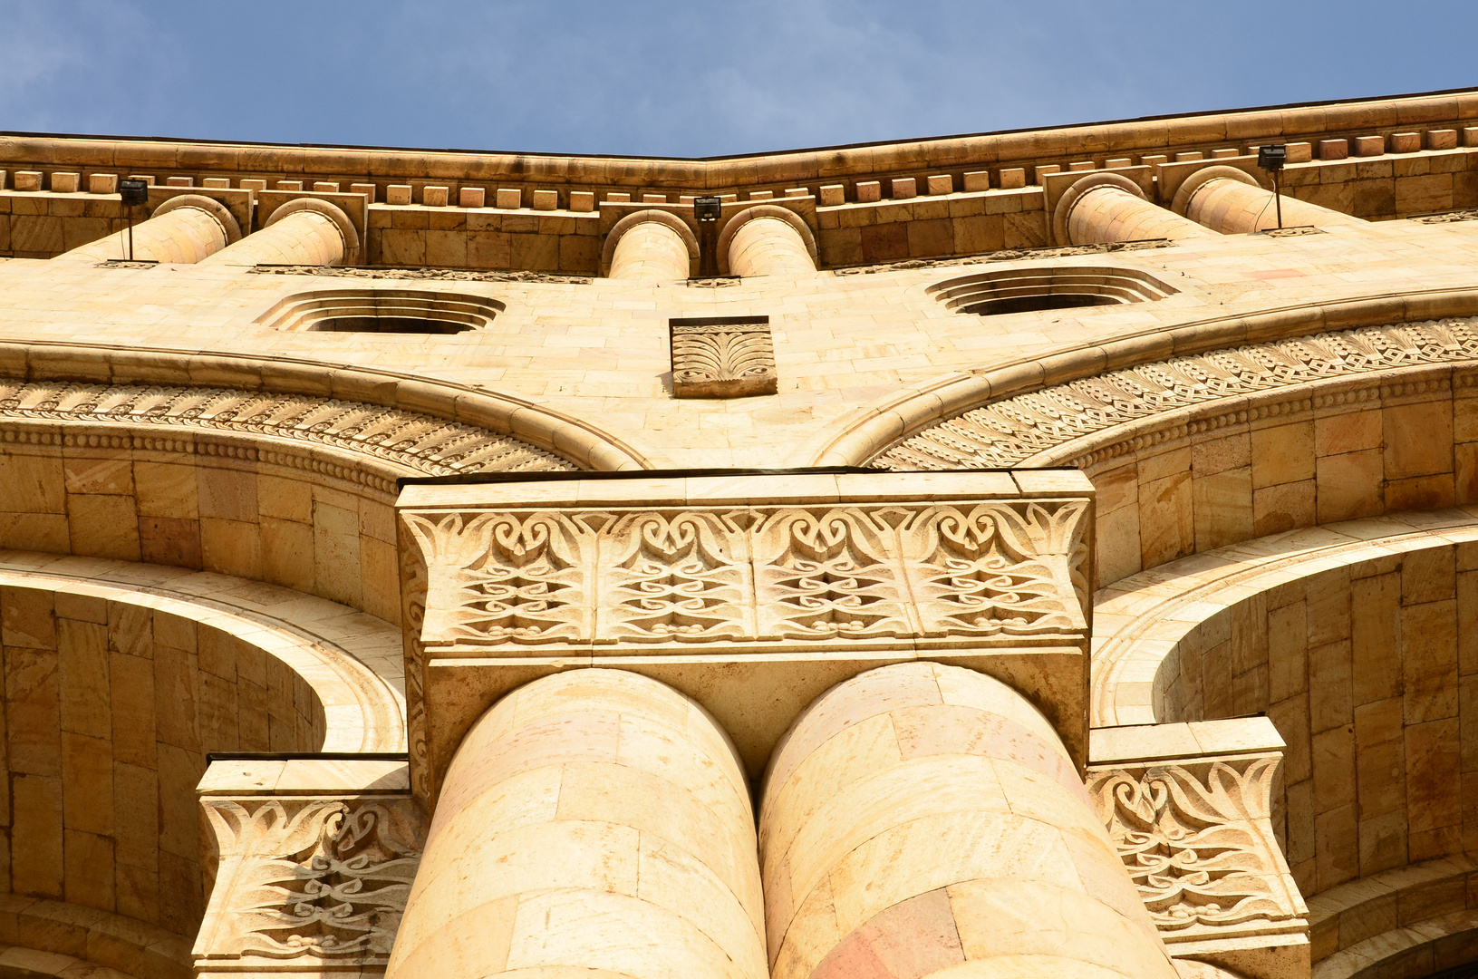
M 701 707 L 619 670 L 537 680 L 452 760 L 387 976 L 1175 978 L 1057 734 L 971 670 L 820 697 L 758 850 Z

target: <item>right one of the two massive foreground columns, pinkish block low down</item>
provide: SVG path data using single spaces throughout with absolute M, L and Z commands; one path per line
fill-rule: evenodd
M 822 695 L 770 762 L 760 847 L 773 979 L 1175 976 L 1057 732 L 973 670 Z

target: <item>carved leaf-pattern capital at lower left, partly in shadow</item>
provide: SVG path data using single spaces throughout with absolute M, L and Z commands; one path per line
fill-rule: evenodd
M 374 967 L 390 946 L 426 831 L 408 797 L 216 799 L 219 846 L 197 969 Z

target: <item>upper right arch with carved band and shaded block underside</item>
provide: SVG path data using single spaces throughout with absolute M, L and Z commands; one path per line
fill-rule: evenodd
M 1145 358 L 987 402 L 872 463 L 1082 469 L 1100 491 L 1101 586 L 1277 531 L 1478 498 L 1475 330 L 1388 319 Z

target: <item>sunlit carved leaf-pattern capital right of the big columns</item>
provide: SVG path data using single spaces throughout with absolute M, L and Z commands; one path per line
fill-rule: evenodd
M 1270 821 L 1280 754 L 1092 768 L 1088 791 L 1172 946 L 1308 930 Z

